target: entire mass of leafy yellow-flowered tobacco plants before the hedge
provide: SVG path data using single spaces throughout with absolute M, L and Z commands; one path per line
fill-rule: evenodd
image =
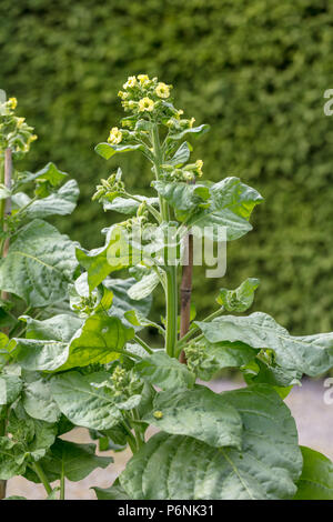
M 254 278 L 220 289 L 211 315 L 192 313 L 196 235 L 216 242 L 223 229 L 240 239 L 262 197 L 234 177 L 204 179 L 190 143 L 209 128 L 171 94 L 145 74 L 119 92 L 125 117 L 95 151 L 111 163 L 143 154 L 155 195 L 131 194 L 113 164 L 93 199 L 124 220 L 91 251 L 46 221 L 73 210 L 74 181 L 62 184 L 52 163 L 9 175 L 32 130 L 21 131 L 12 100 L 0 106 L 0 479 L 21 474 L 64 499 L 65 480 L 112 460 L 62 438 L 83 426 L 100 451 L 132 452 L 110 488 L 94 488 L 98 499 L 333 499 L 331 461 L 299 446 L 284 403 L 303 374 L 333 367 L 333 333 L 294 337 L 266 313 L 249 314 Z M 158 287 L 165 313 L 154 322 Z M 208 383 L 225 368 L 245 387 L 213 392 Z

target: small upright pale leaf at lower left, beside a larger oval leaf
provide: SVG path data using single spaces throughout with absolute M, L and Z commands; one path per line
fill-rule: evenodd
M 57 422 L 61 412 L 53 401 L 49 382 L 40 374 L 26 374 L 22 404 L 28 415 L 46 422 Z

